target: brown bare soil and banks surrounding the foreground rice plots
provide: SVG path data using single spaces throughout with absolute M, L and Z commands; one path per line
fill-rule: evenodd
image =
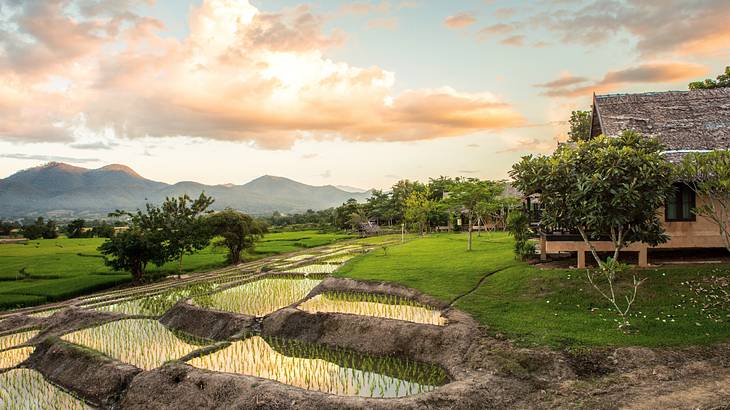
M 436 305 L 411 289 L 380 282 L 326 279 L 312 295 L 349 290 L 398 295 L 442 308 L 446 326 L 293 307 L 263 318 L 207 311 L 179 303 L 160 321 L 194 336 L 225 340 L 260 326 L 264 336 L 295 338 L 370 354 L 403 355 L 437 363 L 451 381 L 395 399 L 334 396 L 251 376 L 195 369 L 181 362 L 142 371 L 57 336 L 129 317 L 70 308 L 47 319 L 9 318 L 13 326 L 45 327 L 31 339 L 36 351 L 23 364 L 102 408 L 179 409 L 728 409 L 730 344 L 681 349 L 520 348 L 489 336 L 467 314 Z M 5 325 L 5 324 L 3 324 Z

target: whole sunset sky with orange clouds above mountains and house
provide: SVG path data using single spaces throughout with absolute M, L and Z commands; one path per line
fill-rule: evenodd
M 506 178 L 593 93 L 730 65 L 727 0 L 0 0 L 0 178 Z

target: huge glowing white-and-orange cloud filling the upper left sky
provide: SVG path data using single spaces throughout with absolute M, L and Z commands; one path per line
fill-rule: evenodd
M 0 37 L 19 50 L 0 54 L 0 138 L 72 141 L 82 128 L 117 138 L 185 136 L 288 149 L 307 138 L 414 141 L 524 123 L 488 92 L 396 91 L 392 72 L 324 57 L 344 35 L 325 33 L 323 18 L 307 7 L 261 13 L 246 1 L 206 0 L 191 9 L 189 35 L 178 40 L 159 34 L 154 19 L 127 16 L 112 29 L 109 18 L 59 17 L 64 5 L 74 6 L 70 0 L 53 4 L 0 14 L 0 27 L 4 18 L 10 24 L 42 15 L 82 33 L 79 44 L 70 34 L 51 39 L 34 22 L 37 30 L 22 29 L 30 43 Z M 39 59 L 34 72 L 17 64 L 22 51 L 44 41 L 63 58 Z

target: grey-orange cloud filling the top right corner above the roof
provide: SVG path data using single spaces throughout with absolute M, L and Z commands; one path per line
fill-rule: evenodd
M 563 40 L 589 45 L 628 33 L 645 56 L 730 52 L 730 2 L 727 0 L 594 0 L 577 7 L 556 6 L 535 16 L 536 24 L 562 34 Z

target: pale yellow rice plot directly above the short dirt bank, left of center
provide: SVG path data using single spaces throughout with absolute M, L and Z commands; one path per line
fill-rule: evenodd
M 203 308 L 264 316 L 302 300 L 320 282 L 320 279 L 294 276 L 264 278 L 195 297 L 193 303 Z

